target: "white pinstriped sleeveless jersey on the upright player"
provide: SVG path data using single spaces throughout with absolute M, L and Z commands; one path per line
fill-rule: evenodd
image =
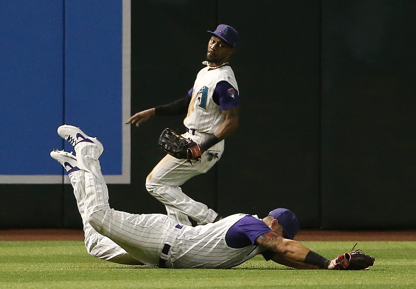
M 213 101 L 213 93 L 218 82 L 225 80 L 238 91 L 237 81 L 230 66 L 209 70 L 202 68 L 196 75 L 191 103 L 183 124 L 200 133 L 214 133 L 223 123 L 220 106 Z

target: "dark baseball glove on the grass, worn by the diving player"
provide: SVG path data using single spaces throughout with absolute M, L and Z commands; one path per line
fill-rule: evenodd
M 335 269 L 337 270 L 368 270 L 370 266 L 374 265 L 374 257 L 359 252 L 360 250 L 354 251 L 355 243 L 350 253 L 344 253 L 335 258 Z

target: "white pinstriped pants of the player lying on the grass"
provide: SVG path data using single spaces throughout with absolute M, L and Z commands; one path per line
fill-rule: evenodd
M 75 151 L 94 172 L 69 174 L 89 254 L 120 264 L 157 266 L 166 236 L 177 223 L 162 214 L 139 215 L 110 209 L 108 189 L 94 157 L 95 145 L 79 144 Z

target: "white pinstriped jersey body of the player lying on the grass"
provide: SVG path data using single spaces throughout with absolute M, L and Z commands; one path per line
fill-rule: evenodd
M 234 214 L 218 222 L 203 226 L 184 226 L 171 248 L 171 268 L 231 268 L 265 251 L 261 246 L 231 248 L 225 235 L 237 221 L 247 214 Z

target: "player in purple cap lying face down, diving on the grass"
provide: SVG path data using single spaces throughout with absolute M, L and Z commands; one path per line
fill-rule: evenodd
M 195 227 L 181 226 L 163 214 L 115 211 L 109 206 L 99 164 L 102 143 L 75 126 L 59 126 L 57 132 L 72 144 L 75 156 L 58 150 L 50 155 L 69 175 L 84 223 L 85 244 L 93 256 L 162 268 L 231 268 L 262 254 L 266 260 L 298 269 L 345 269 L 352 259 L 352 254 L 345 253 L 329 260 L 294 241 L 299 223 L 295 214 L 283 208 L 263 219 L 234 214 Z

